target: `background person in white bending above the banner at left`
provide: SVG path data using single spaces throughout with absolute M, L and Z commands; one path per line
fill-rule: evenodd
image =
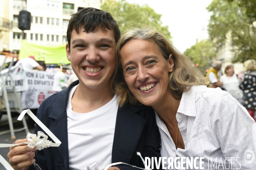
M 15 65 L 18 65 L 18 64 L 21 64 L 24 70 L 38 69 L 38 70 L 44 71 L 44 67 L 39 65 L 35 61 L 35 57 L 32 55 L 29 56 L 28 58 L 22 58 Z

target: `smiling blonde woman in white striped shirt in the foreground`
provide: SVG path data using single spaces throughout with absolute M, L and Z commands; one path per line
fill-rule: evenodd
M 116 87 L 120 104 L 153 107 L 161 155 L 178 162 L 168 167 L 165 159 L 167 169 L 256 169 L 256 123 L 247 110 L 228 92 L 209 88 L 210 81 L 161 33 L 128 31 L 117 58 L 124 74 Z

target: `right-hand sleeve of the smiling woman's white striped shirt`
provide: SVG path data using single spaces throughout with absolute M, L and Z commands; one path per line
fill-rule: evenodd
M 231 95 L 224 95 L 214 114 L 215 138 L 232 168 L 256 169 L 256 122 L 247 110 Z

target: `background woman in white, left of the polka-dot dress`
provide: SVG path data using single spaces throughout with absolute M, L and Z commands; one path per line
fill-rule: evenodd
M 243 100 L 243 91 L 239 89 L 239 79 L 238 76 L 234 74 L 234 67 L 228 65 L 224 72 L 225 75 L 222 75 L 220 78 L 222 87 L 241 104 Z

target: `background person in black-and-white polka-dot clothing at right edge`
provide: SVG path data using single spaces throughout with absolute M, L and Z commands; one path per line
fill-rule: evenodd
M 256 60 L 247 60 L 244 62 L 246 72 L 244 72 L 244 80 L 242 80 L 239 88 L 243 90 L 244 97 L 242 105 L 247 109 L 252 118 L 256 110 Z M 242 79 L 242 75 L 238 74 Z

